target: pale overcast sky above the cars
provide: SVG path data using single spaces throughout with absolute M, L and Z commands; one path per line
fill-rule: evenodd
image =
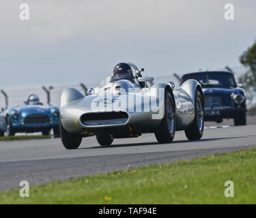
M 0 10 L 0 87 L 98 82 L 121 61 L 148 76 L 238 67 L 256 39 L 255 0 L 1 0 Z

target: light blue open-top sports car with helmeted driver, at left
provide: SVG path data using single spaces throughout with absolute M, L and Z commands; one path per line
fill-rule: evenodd
M 44 107 L 38 95 L 29 95 L 23 106 L 0 112 L 0 136 L 4 136 L 5 131 L 8 136 L 14 136 L 17 132 L 36 131 L 49 135 L 52 128 L 54 134 L 59 136 L 59 108 Z

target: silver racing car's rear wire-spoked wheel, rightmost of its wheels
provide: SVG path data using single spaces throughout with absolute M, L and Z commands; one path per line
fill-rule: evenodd
M 203 99 L 201 93 L 197 90 L 195 94 L 195 118 L 185 130 L 188 140 L 199 140 L 203 136 L 204 116 L 203 116 Z

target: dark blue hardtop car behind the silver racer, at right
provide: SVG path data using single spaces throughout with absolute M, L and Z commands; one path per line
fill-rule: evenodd
M 184 74 L 181 82 L 189 79 L 197 80 L 203 88 L 205 121 L 234 119 L 235 125 L 246 125 L 246 93 L 231 72 Z

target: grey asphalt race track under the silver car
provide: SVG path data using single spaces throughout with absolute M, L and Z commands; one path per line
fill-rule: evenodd
M 113 145 L 102 148 L 95 137 L 83 139 L 76 150 L 64 149 L 60 138 L 0 142 L 0 191 L 19 188 L 23 180 L 38 185 L 248 149 L 256 146 L 256 125 L 207 127 L 199 141 L 189 142 L 184 131 L 177 131 L 171 144 L 158 144 L 154 134 L 144 134 L 115 139 Z

